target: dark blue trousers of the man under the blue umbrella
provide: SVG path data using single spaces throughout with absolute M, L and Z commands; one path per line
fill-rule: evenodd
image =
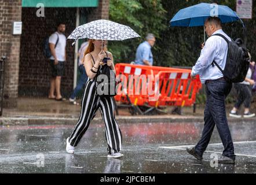
M 216 125 L 224 146 L 223 156 L 235 160 L 234 146 L 231 132 L 226 119 L 225 98 L 231 91 L 232 83 L 226 82 L 225 79 L 209 80 L 206 82 L 206 105 L 204 108 L 204 128 L 202 137 L 195 146 L 196 153 L 201 157 L 206 150 Z

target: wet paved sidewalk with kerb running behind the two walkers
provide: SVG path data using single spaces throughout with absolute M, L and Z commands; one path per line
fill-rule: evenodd
M 80 101 L 78 100 L 80 103 Z M 182 123 L 202 122 L 203 106 L 197 106 L 196 113 L 192 107 L 183 108 L 183 115 L 171 114 L 172 107 L 167 108 L 167 114 L 152 116 L 131 116 L 127 108 L 118 110 L 116 116 L 118 123 Z M 81 105 L 72 105 L 68 101 L 55 101 L 47 98 L 26 98 L 21 97 L 15 109 L 3 109 L 3 116 L 0 117 L 0 125 L 34 125 L 34 124 L 76 124 Z M 229 120 L 236 120 L 231 119 Z M 241 121 L 243 119 L 240 119 Z M 248 120 L 248 119 L 246 119 Z M 249 119 L 256 122 L 256 119 Z M 100 112 L 97 112 L 93 123 L 103 123 Z

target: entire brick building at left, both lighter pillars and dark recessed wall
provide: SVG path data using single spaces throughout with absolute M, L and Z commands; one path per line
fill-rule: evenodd
M 108 19 L 109 0 L 100 0 L 97 8 L 83 8 L 87 21 Z M 42 53 L 46 36 L 56 29 L 59 19 L 66 21 L 68 36 L 75 28 L 76 8 L 45 8 L 45 17 L 36 16 L 37 8 L 21 8 L 21 0 L 0 0 L 0 57 L 8 57 L 5 65 L 5 104 L 17 105 L 19 95 L 47 96 L 50 66 Z M 12 35 L 13 21 L 22 21 L 22 35 Z M 72 40 L 67 41 L 65 76 L 61 91 L 68 97 L 74 78 L 74 49 Z

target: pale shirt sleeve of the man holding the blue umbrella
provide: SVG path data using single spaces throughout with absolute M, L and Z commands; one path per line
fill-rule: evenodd
M 191 75 L 202 75 L 202 72 L 204 69 L 206 69 L 211 63 L 213 62 L 216 52 L 217 52 L 217 43 L 213 38 L 209 38 L 206 41 L 206 44 L 204 45 L 200 57 L 198 58 L 198 61 L 192 68 Z

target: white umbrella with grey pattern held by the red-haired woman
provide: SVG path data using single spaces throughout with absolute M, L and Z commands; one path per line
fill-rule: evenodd
M 96 40 L 125 40 L 140 37 L 133 29 L 126 25 L 109 20 L 96 20 L 80 25 L 68 36 L 68 39 L 96 39 Z M 75 43 L 74 42 L 74 43 Z M 74 45 L 74 43 L 72 45 Z

